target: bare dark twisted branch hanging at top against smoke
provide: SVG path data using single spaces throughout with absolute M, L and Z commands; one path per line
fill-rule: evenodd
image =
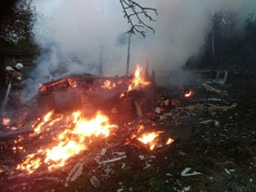
M 149 7 L 142 7 L 140 4 L 136 3 L 132 0 L 119 0 L 124 13 L 124 18 L 127 19 L 128 23 L 131 25 L 130 30 L 126 33 L 136 35 L 136 33 L 140 33 L 144 38 L 146 37 L 146 32 L 144 28 L 148 28 L 155 32 L 154 29 L 147 25 L 143 20 L 142 17 L 148 19 L 149 21 L 155 21 L 148 12 L 154 12 L 156 15 L 157 9 L 149 8 Z M 138 10 L 137 10 L 138 9 Z M 135 18 L 135 19 L 133 19 Z

